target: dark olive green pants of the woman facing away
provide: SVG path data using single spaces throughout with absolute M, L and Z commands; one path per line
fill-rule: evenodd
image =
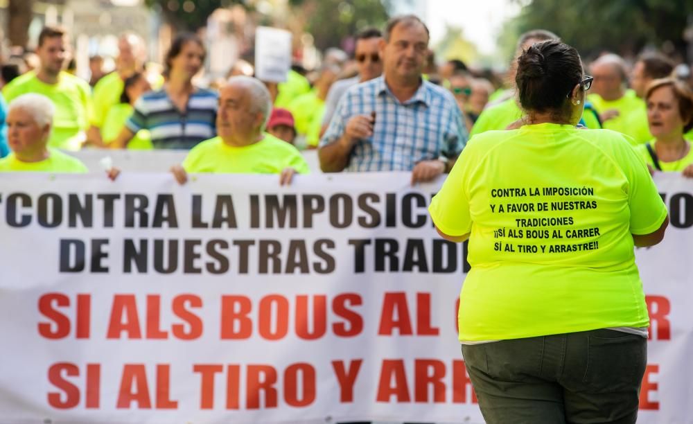
M 591 330 L 462 345 L 488 424 L 635 423 L 647 339 Z

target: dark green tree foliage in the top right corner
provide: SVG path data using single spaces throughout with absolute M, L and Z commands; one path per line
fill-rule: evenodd
M 689 15 L 691 0 L 530 0 L 507 32 L 517 37 L 534 28 L 551 30 L 583 56 L 635 55 L 648 44 L 660 48 L 665 42 L 683 53 Z

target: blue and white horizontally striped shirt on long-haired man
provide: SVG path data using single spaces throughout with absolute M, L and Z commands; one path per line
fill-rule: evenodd
M 188 98 L 186 111 L 181 112 L 160 89 L 137 99 L 125 125 L 135 134 L 149 130 L 156 149 L 190 149 L 216 136 L 217 107 L 218 95 L 198 88 Z

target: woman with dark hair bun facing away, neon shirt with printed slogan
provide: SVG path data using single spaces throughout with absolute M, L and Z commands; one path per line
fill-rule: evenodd
M 474 136 L 430 213 L 469 238 L 459 339 L 487 423 L 635 423 L 649 319 L 634 246 L 669 222 L 624 136 L 575 127 L 585 76 L 549 40 L 518 58 L 525 125 Z

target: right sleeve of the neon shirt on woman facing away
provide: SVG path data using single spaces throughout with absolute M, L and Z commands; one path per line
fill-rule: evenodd
M 629 181 L 628 206 L 631 210 L 631 233 L 644 235 L 657 231 L 667 217 L 667 206 L 647 170 L 644 159 L 635 149 L 624 146 L 626 177 Z

